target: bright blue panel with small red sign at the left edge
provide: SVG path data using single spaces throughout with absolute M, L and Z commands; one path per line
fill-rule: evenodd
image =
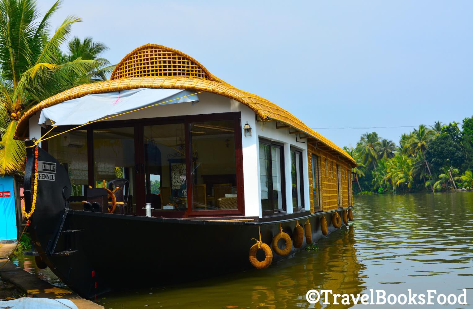
M 13 176 L 0 177 L 0 240 L 17 239 Z

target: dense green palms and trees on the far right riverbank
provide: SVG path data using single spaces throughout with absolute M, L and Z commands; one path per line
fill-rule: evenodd
M 398 144 L 363 134 L 355 147 L 344 147 L 358 163 L 354 189 L 371 192 L 418 192 L 473 189 L 473 116 L 462 123 L 419 125 Z

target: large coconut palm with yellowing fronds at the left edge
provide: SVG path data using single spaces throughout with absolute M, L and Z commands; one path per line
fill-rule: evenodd
M 47 97 L 89 82 L 100 61 L 64 60 L 60 46 L 79 17 L 67 17 L 50 37 L 54 3 L 40 19 L 34 0 L 0 0 L 0 175 L 21 173 L 25 146 L 13 139 L 22 113 Z

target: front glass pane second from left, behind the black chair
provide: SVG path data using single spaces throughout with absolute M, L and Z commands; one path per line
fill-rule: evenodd
M 96 129 L 93 136 L 96 187 L 101 188 L 103 180 L 105 183 L 119 178 L 128 180 L 130 186 L 124 189 L 123 194 L 129 194 L 128 213 L 136 213 L 134 129 Z

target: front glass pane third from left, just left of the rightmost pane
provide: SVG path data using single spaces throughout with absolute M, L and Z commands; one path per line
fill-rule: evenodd
M 145 202 L 187 210 L 184 123 L 144 126 Z

